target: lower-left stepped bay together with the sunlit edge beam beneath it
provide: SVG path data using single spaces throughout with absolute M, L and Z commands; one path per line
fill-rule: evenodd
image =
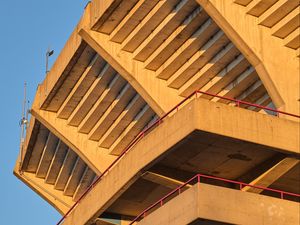
M 97 174 L 44 125 L 34 118 L 32 121 L 30 129 L 33 130 L 23 149 L 23 161 L 15 173 L 58 211 L 66 212 Z

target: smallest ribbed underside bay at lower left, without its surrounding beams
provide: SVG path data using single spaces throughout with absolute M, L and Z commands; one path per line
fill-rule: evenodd
M 96 173 L 63 141 L 36 123 L 22 171 L 35 174 L 36 179 L 76 201 L 96 179 Z

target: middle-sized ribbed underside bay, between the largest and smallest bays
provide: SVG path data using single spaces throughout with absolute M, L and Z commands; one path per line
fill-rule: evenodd
M 57 118 L 114 155 L 157 118 L 134 88 L 89 46 L 46 110 L 56 112 Z

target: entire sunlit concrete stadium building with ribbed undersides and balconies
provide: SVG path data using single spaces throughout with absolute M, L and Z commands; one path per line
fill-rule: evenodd
M 14 174 L 64 225 L 299 224 L 299 7 L 92 0 Z

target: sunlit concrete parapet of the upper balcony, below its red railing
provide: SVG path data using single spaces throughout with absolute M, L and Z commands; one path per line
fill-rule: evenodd
M 64 224 L 90 224 L 138 179 L 147 166 L 194 130 L 299 154 L 298 123 L 195 99 L 138 142 L 80 202 Z M 289 135 L 291 131 L 295 136 Z

